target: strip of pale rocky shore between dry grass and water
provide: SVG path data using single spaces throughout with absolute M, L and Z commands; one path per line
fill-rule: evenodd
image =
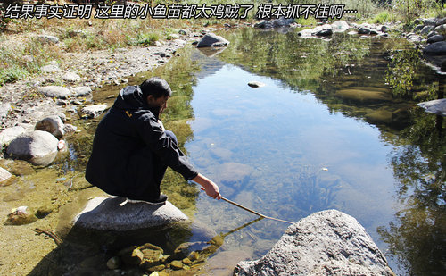
M 154 46 L 65 53 L 62 63 L 47 63 L 41 68 L 40 75 L 0 88 L 0 127 L 6 129 L 20 125 L 31 129 L 46 116 L 62 114 L 73 106 L 76 108 L 84 104 L 95 88 L 125 83 L 128 76 L 166 63 L 177 54 L 178 48 L 202 35 L 180 29 L 178 34 L 170 36 L 171 40 L 157 41 Z M 43 39 L 43 46 L 58 45 L 58 38 L 38 38 Z

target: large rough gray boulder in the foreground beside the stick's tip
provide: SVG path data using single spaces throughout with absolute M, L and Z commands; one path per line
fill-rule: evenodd
M 366 230 L 348 214 L 327 210 L 288 227 L 257 261 L 235 275 L 394 275 Z

